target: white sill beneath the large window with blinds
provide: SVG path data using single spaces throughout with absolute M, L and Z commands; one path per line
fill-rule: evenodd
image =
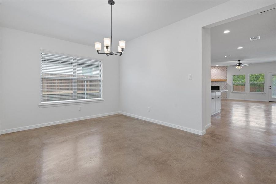
M 104 102 L 104 99 L 97 98 L 97 99 L 88 99 L 88 100 L 68 100 L 68 101 L 62 101 L 62 102 L 41 102 L 38 106 L 40 108 L 44 108 L 44 107 L 78 105 L 78 104 L 97 103 L 97 102 Z

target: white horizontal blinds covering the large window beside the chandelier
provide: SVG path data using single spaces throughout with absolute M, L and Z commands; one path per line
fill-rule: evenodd
M 102 98 L 101 61 L 41 50 L 41 102 Z

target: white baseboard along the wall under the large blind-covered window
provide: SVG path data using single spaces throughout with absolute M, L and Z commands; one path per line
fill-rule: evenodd
M 119 114 L 119 112 L 96 114 L 96 115 L 92 115 L 92 116 L 78 117 L 78 118 L 73 118 L 73 119 L 54 121 L 54 122 L 49 122 L 49 123 L 37 124 L 37 125 L 29 125 L 29 126 L 18 127 L 18 128 L 10 128 L 10 129 L 6 129 L 6 130 L 1 130 L 0 135 L 5 134 L 5 133 L 18 132 L 18 131 L 22 131 L 22 130 L 40 128 L 40 127 L 51 126 L 51 125 L 58 125 L 58 124 L 62 124 L 62 123 L 69 123 L 69 122 L 73 122 L 73 121 L 86 120 L 86 119 L 91 119 L 91 118 L 95 118 L 95 117 L 103 117 L 103 116 L 109 116 L 109 115 L 114 115 L 114 114 Z

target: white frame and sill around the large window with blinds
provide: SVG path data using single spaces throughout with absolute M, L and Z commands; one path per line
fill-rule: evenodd
M 98 60 L 98 59 L 93 59 L 93 58 L 89 58 L 89 57 L 84 57 L 84 56 L 76 56 L 76 55 L 69 55 L 69 54 L 63 54 L 63 53 L 59 53 L 59 52 L 52 52 L 52 51 L 47 51 L 44 49 L 40 50 L 40 53 L 42 52 L 46 52 L 46 53 L 50 53 L 50 54 L 56 54 L 56 55 L 60 55 L 60 56 L 70 56 L 70 57 L 74 57 L 74 58 L 81 58 L 81 59 L 89 59 L 89 60 L 94 60 L 94 61 L 99 61 L 100 65 L 101 65 L 101 72 L 100 72 L 100 81 L 101 81 L 101 85 L 100 85 L 100 97 L 101 98 L 89 98 L 89 99 L 75 99 L 75 100 L 62 100 L 62 101 L 50 101 L 50 102 L 41 102 L 41 95 L 40 95 L 40 103 L 39 103 L 39 107 L 43 108 L 43 107 L 54 107 L 54 106 L 64 106 L 64 105 L 77 105 L 77 104 L 85 104 L 85 103 L 96 103 L 96 102 L 104 102 L 103 99 L 103 62 Z M 40 56 L 41 58 L 41 56 Z M 40 80 L 41 80 L 41 62 L 40 62 Z M 74 81 L 74 80 L 73 80 Z M 85 81 L 85 79 L 84 79 Z M 40 94 L 42 93 L 42 86 L 41 86 L 41 82 L 40 82 Z M 74 90 L 74 89 L 73 89 Z M 75 89 L 77 90 L 77 89 Z

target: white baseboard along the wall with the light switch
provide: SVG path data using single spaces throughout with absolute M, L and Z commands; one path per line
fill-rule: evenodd
M 141 119 L 141 120 L 149 121 L 149 122 L 152 122 L 152 123 L 157 123 L 157 124 L 160 124 L 160 125 L 164 125 L 164 126 L 168 126 L 168 127 L 172 127 L 172 128 L 177 128 L 177 129 L 180 129 L 180 130 L 184 130 L 186 132 L 195 133 L 195 134 L 198 134 L 198 135 L 201 135 L 201 136 L 206 133 L 206 130 L 203 130 L 203 131 L 195 130 L 195 129 L 192 129 L 192 128 L 187 128 L 187 127 L 183 127 L 183 126 L 180 126 L 180 125 L 167 123 L 167 122 L 164 122 L 164 121 L 153 120 L 153 119 L 150 119 L 150 118 L 147 118 L 147 117 L 142 117 L 142 116 L 138 116 L 138 115 L 134 115 L 134 114 L 130 114 L 130 113 L 125 113 L 125 112 L 119 112 L 119 113 L 123 114 L 123 115 L 126 115 L 126 116 L 135 117 L 135 118 L 138 118 L 138 119 Z

